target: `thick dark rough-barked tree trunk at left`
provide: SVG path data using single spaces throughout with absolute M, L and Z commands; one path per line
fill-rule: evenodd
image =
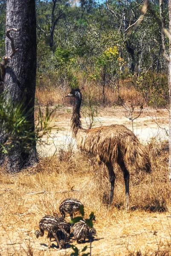
M 19 51 L 12 57 L 6 67 L 4 91 L 6 100 L 13 104 L 23 103 L 25 113 L 32 109 L 27 117 L 33 131 L 30 138 L 31 148 L 27 151 L 20 144 L 13 143 L 7 154 L 1 154 L 0 163 L 6 164 L 8 172 L 19 172 L 23 167 L 37 161 L 34 124 L 35 80 L 36 80 L 36 16 L 35 0 L 7 0 L 6 30 L 15 28 L 10 35 L 14 38 L 15 48 Z M 11 42 L 6 38 L 6 56 L 12 52 Z M 30 128 L 30 127 L 29 127 Z M 6 143 L 10 137 L 1 127 L 0 143 Z M 18 138 L 16 138 L 18 139 Z

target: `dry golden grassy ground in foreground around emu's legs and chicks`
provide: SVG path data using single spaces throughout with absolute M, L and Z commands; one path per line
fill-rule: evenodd
M 37 240 L 34 230 L 43 215 L 59 212 L 60 202 L 73 197 L 83 202 L 86 217 L 92 210 L 96 214 L 99 240 L 93 242 L 92 255 L 171 255 L 171 218 L 167 218 L 171 210 L 171 185 L 168 151 L 164 148 L 162 144 L 149 145 L 151 174 L 130 169 L 129 212 L 125 212 L 125 186 L 119 168 L 116 167 L 114 202 L 108 207 L 107 170 L 87 154 L 61 151 L 17 175 L 8 175 L 1 169 L 0 254 L 70 255 L 71 249 L 57 253 L 55 247 L 48 253 L 46 236 Z

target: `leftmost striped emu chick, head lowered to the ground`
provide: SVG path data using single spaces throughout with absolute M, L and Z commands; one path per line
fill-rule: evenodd
M 52 237 L 55 238 L 59 249 L 61 249 L 61 244 L 59 243 L 58 237 L 56 235 L 57 231 L 59 229 L 61 229 L 61 225 L 58 221 L 57 218 L 51 216 L 51 215 L 46 215 L 44 216 L 41 221 L 39 222 L 39 230 L 35 231 L 35 235 L 38 238 L 39 236 L 43 236 L 44 235 L 44 231 L 48 232 L 48 238 L 49 238 L 49 244 L 48 244 L 48 248 L 50 248 L 50 244 L 51 244 L 51 239 Z

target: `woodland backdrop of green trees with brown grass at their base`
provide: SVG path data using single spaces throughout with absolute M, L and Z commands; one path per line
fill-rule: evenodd
M 90 104 L 168 105 L 159 1 L 36 1 L 36 103 L 65 103 L 78 87 Z M 168 27 L 168 3 L 163 2 Z M 6 0 L 0 1 L 0 56 L 5 55 Z M 166 52 L 169 42 L 165 37 Z

